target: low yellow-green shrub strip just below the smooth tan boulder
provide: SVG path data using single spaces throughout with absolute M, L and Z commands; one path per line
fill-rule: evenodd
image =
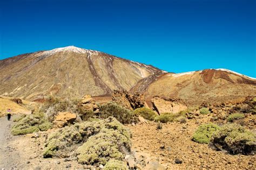
M 161 123 L 167 123 L 167 122 L 184 122 L 186 121 L 186 117 L 184 116 L 184 112 L 179 112 L 177 114 L 172 114 L 172 113 L 163 113 L 160 114 L 159 116 L 156 116 L 154 120 L 156 122 L 161 122 Z

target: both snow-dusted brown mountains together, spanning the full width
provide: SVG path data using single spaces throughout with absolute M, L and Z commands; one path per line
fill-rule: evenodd
M 0 95 L 36 100 L 110 96 L 113 90 L 181 98 L 188 104 L 256 96 L 256 79 L 227 69 L 167 73 L 151 65 L 68 46 L 0 60 Z

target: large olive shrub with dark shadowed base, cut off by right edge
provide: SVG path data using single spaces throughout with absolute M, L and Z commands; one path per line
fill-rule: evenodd
M 226 124 L 213 133 L 209 145 L 232 154 L 255 154 L 256 135 L 238 124 Z

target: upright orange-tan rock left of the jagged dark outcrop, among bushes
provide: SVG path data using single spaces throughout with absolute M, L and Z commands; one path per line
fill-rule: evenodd
M 85 95 L 78 103 L 78 108 L 81 110 L 81 112 L 86 112 L 86 111 L 93 111 L 94 114 L 99 113 L 99 107 L 96 104 L 96 101 L 91 97 L 91 95 Z

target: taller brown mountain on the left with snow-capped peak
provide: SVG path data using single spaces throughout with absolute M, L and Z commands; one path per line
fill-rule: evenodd
M 0 60 L 0 94 L 35 100 L 43 95 L 81 97 L 130 90 L 164 71 L 106 53 L 74 46 Z

